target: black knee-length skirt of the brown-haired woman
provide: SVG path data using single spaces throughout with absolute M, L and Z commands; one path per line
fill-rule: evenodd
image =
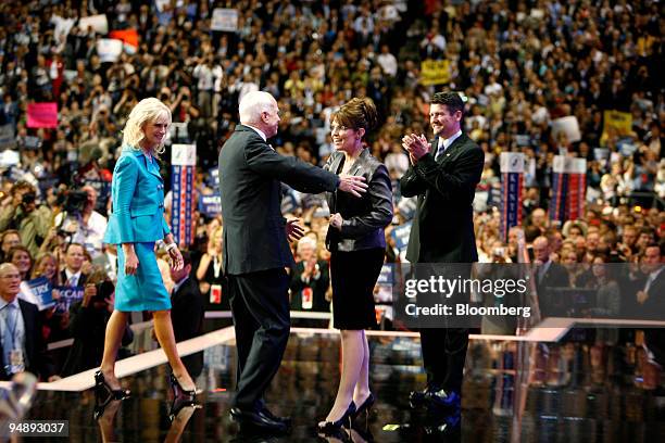
M 360 330 L 376 327 L 374 287 L 384 265 L 385 250 L 330 254 L 332 280 L 332 325 L 337 329 Z

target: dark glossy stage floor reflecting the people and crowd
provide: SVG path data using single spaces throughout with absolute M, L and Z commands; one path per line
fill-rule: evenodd
M 371 387 L 377 403 L 367 428 L 352 431 L 350 438 L 354 442 L 665 441 L 663 387 L 660 380 L 653 385 L 652 375 L 641 374 L 635 349 L 594 344 L 588 330 L 573 332 L 548 344 L 472 340 L 461 433 L 448 440 L 427 435 L 419 413 L 409 407 L 409 392 L 425 385 L 418 339 L 371 336 Z M 275 414 L 293 418 L 293 431 L 281 438 L 239 434 L 230 421 L 234 347 L 231 339 L 203 351 L 197 378 L 204 390 L 202 407 L 184 409 L 173 423 L 166 365 L 123 378 L 133 396 L 111 404 L 100 420 L 93 419 L 92 390 L 40 390 L 26 418 L 68 420 L 73 442 L 317 441 L 315 423 L 325 418 L 339 380 L 338 333 L 292 332 L 266 395 Z

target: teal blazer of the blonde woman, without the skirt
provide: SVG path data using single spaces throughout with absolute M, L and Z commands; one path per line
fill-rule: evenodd
M 146 243 L 171 232 L 164 219 L 164 180 L 153 159 L 125 145 L 113 169 L 113 208 L 104 243 Z

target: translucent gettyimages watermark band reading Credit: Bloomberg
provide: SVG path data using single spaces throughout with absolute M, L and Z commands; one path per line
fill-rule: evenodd
M 397 264 L 394 320 L 407 328 L 481 328 L 513 334 L 548 317 L 612 325 L 665 319 L 661 267 L 635 264 Z M 657 280 L 656 280 L 657 279 Z M 598 321 L 598 320 L 602 321 Z M 622 322 L 624 325 L 624 322 Z

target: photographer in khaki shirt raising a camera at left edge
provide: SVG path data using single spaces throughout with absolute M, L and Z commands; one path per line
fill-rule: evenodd
M 0 208 L 0 231 L 16 229 L 21 243 L 37 255 L 50 227 L 51 210 L 37 204 L 37 189 L 27 181 L 16 181 Z

